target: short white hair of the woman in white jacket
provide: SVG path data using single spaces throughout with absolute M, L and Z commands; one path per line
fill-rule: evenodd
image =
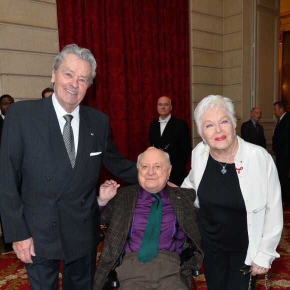
M 216 110 L 219 107 L 222 107 L 228 114 L 228 117 L 232 123 L 233 129 L 236 127 L 236 117 L 233 107 L 233 101 L 222 95 L 213 95 L 210 94 L 204 97 L 196 106 L 194 110 L 194 120 L 196 122 L 197 133 L 202 137 L 202 115 L 205 112 L 210 111 L 214 106 L 216 106 Z

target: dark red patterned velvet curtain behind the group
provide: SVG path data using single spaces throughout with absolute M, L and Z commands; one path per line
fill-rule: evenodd
M 157 98 L 190 127 L 188 0 L 56 0 L 60 49 L 76 43 L 97 60 L 84 104 L 110 118 L 131 160 L 148 147 Z M 105 174 L 106 175 L 106 174 Z

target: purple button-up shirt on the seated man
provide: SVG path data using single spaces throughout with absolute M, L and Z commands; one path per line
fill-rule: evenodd
M 175 213 L 170 202 L 166 188 L 160 191 L 161 202 L 162 202 L 162 219 L 161 219 L 161 229 L 159 237 L 159 250 L 166 250 L 172 242 L 172 233 L 175 222 Z M 129 244 L 125 247 L 125 252 L 138 251 L 144 234 L 144 230 L 147 223 L 147 218 L 149 215 L 150 207 L 156 198 L 144 189 L 140 189 L 134 215 L 134 224 L 132 236 L 129 240 Z M 185 240 L 185 233 L 179 226 L 178 228 L 178 238 L 176 240 L 176 252 L 181 253 L 182 244 Z M 130 246 L 130 248 L 129 248 Z M 169 248 L 169 250 L 174 250 L 174 243 Z

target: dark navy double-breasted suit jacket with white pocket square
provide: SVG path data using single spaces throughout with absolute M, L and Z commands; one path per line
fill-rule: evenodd
M 116 151 L 106 114 L 79 106 L 72 169 L 51 96 L 11 104 L 0 150 L 0 212 L 6 242 L 32 236 L 36 255 L 66 262 L 95 250 L 101 163 L 120 179 L 137 181 L 135 163 Z

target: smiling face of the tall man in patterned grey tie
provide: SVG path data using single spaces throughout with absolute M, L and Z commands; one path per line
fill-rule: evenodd
M 84 98 L 89 78 L 90 63 L 74 54 L 66 54 L 59 68 L 52 71 L 55 97 L 68 113 Z

